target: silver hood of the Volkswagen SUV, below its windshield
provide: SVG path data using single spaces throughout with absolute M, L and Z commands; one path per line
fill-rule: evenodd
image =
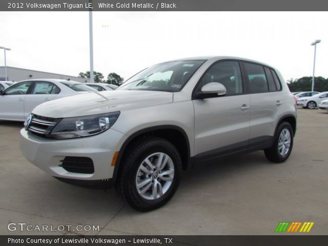
M 38 105 L 32 113 L 51 118 L 66 118 L 172 102 L 172 92 L 113 90 L 55 99 Z

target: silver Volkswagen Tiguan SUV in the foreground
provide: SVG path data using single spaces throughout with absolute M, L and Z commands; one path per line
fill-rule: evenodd
M 35 166 L 75 185 L 110 187 L 136 210 L 168 202 L 181 170 L 264 150 L 291 154 L 296 104 L 278 70 L 257 61 L 196 57 L 151 66 L 115 91 L 37 106 L 20 131 Z

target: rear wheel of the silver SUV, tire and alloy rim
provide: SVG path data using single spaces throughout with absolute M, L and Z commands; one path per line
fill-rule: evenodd
M 292 152 L 293 143 L 294 133 L 292 126 L 288 122 L 283 121 L 276 130 L 272 147 L 264 150 L 265 157 L 272 162 L 284 162 Z

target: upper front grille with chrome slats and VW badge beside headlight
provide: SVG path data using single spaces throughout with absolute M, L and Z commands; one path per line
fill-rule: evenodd
M 27 130 L 40 137 L 53 138 L 50 133 L 60 120 L 33 114 Z

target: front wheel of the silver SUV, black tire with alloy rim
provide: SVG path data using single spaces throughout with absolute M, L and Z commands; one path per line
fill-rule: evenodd
M 179 152 L 171 142 L 155 137 L 142 138 L 129 149 L 121 162 L 115 184 L 117 193 L 141 212 L 163 206 L 179 186 L 182 169 Z M 157 166 L 159 159 L 161 165 Z

